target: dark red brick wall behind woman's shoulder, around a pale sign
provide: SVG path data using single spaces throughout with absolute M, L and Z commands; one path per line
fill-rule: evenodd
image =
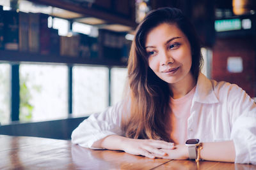
M 251 97 L 255 97 L 255 49 L 256 45 L 252 37 L 216 39 L 212 48 L 212 79 L 236 83 Z M 228 57 L 242 57 L 242 73 L 228 72 Z

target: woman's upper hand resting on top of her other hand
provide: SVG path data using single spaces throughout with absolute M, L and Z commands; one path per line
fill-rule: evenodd
M 169 150 L 173 150 L 174 144 L 153 139 L 129 139 L 124 138 L 122 150 L 132 155 L 143 155 L 148 158 L 163 158 L 168 156 Z

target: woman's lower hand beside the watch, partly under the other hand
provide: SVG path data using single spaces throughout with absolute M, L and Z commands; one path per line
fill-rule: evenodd
M 186 145 L 175 145 L 173 150 L 166 150 L 163 148 L 161 151 L 167 153 L 167 155 L 163 157 L 164 159 L 188 159 L 188 146 Z

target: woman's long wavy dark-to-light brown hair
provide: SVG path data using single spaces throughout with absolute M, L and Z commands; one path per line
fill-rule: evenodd
M 168 83 L 161 80 L 148 66 L 145 50 L 148 32 L 163 23 L 176 24 L 187 36 L 192 52 L 191 73 L 196 80 L 201 69 L 202 55 L 198 36 L 182 11 L 177 8 L 150 11 L 136 29 L 128 61 L 131 116 L 122 122 L 122 129 L 128 138 L 171 141 L 166 132 L 166 118 L 170 111 L 172 92 Z

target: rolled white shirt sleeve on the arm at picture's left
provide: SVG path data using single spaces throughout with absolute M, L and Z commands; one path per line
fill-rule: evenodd
M 72 143 L 78 144 L 85 148 L 93 148 L 95 141 L 103 139 L 106 136 L 116 134 L 123 136 L 121 129 L 122 115 L 127 114 L 129 101 L 124 100 L 114 106 L 109 107 L 102 113 L 95 113 L 81 122 L 72 132 Z

